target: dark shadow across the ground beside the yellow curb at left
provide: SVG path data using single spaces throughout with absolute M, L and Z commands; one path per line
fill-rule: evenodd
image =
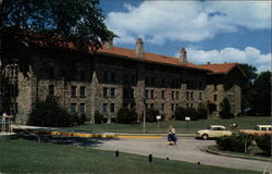
M 53 135 L 38 135 L 41 142 L 49 142 L 54 145 L 69 145 L 69 146 L 81 146 L 81 147 L 99 147 L 103 141 L 118 140 L 115 138 L 83 138 L 83 137 L 65 137 L 65 136 L 53 136 Z M 35 140 L 38 138 L 29 134 L 17 134 L 17 138 Z

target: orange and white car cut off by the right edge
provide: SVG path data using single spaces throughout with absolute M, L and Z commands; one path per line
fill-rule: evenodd
M 254 129 L 240 129 L 240 134 L 247 135 L 272 135 L 271 125 L 256 125 Z

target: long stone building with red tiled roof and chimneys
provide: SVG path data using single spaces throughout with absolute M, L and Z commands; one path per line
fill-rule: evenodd
M 65 62 L 72 57 L 74 61 Z M 135 50 L 108 42 L 97 53 L 76 50 L 52 51 L 42 47 L 32 51 L 28 77 L 16 72 L 16 122 L 25 123 L 35 101 L 54 96 L 70 112 L 92 119 L 96 111 L 108 122 L 122 107 L 159 110 L 170 119 L 177 107 L 208 104 L 218 116 L 226 97 L 235 114 L 240 113 L 240 87 L 245 74 L 236 63 L 196 65 L 181 49 L 180 58 L 145 52 L 137 39 Z M 61 59 L 59 59 L 61 58 Z M 61 60 L 61 61 L 60 61 Z M 62 63 L 63 62 L 63 63 Z M 40 64 L 47 65 L 38 71 Z

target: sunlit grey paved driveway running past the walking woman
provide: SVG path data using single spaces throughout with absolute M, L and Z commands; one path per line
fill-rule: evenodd
M 218 165 L 224 167 L 254 170 L 263 172 L 267 167 L 271 171 L 271 163 L 258 160 L 247 160 L 232 157 L 210 154 L 202 149 L 214 145 L 214 140 L 198 140 L 195 138 L 180 138 L 177 146 L 169 146 L 162 138 L 122 138 L 118 140 L 104 140 L 96 149 L 119 150 L 137 154 L 152 154 L 158 158 L 200 162 L 201 164 Z

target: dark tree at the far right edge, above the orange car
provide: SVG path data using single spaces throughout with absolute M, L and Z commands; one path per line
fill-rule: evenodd
M 271 115 L 271 72 L 262 72 L 254 83 L 252 114 Z

